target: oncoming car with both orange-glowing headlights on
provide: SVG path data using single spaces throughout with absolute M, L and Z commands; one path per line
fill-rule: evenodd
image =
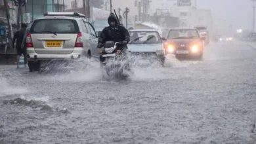
M 197 29 L 170 29 L 165 42 L 165 51 L 169 54 L 175 54 L 177 58 L 192 57 L 201 60 L 204 40 L 205 37 L 201 37 Z

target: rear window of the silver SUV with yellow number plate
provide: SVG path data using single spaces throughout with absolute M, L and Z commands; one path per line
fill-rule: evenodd
M 40 19 L 35 20 L 30 33 L 79 33 L 79 27 L 75 20 Z

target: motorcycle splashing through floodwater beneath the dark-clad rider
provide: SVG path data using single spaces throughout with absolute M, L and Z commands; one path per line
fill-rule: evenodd
M 101 66 L 105 72 L 103 76 L 107 76 L 107 79 L 127 79 L 129 77 L 127 54 L 121 50 L 123 45 L 125 43 L 106 41 L 104 49 L 100 52 L 102 55 Z

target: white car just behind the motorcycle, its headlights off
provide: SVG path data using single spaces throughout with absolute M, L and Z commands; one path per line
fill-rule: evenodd
M 155 29 L 133 29 L 129 31 L 131 41 L 128 50 L 133 55 L 156 56 L 163 64 L 165 62 L 164 38 Z

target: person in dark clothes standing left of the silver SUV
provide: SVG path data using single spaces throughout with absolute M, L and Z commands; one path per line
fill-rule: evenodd
M 16 41 L 16 50 L 17 50 L 17 68 L 19 68 L 19 62 L 20 62 L 20 56 L 24 56 L 24 66 L 27 67 L 27 58 L 26 58 L 26 46 L 22 45 L 22 41 L 24 39 L 24 35 L 26 33 L 26 24 L 21 25 L 21 29 L 19 31 L 16 31 L 14 34 L 14 37 L 12 39 L 12 47 L 14 48 L 14 43 Z

